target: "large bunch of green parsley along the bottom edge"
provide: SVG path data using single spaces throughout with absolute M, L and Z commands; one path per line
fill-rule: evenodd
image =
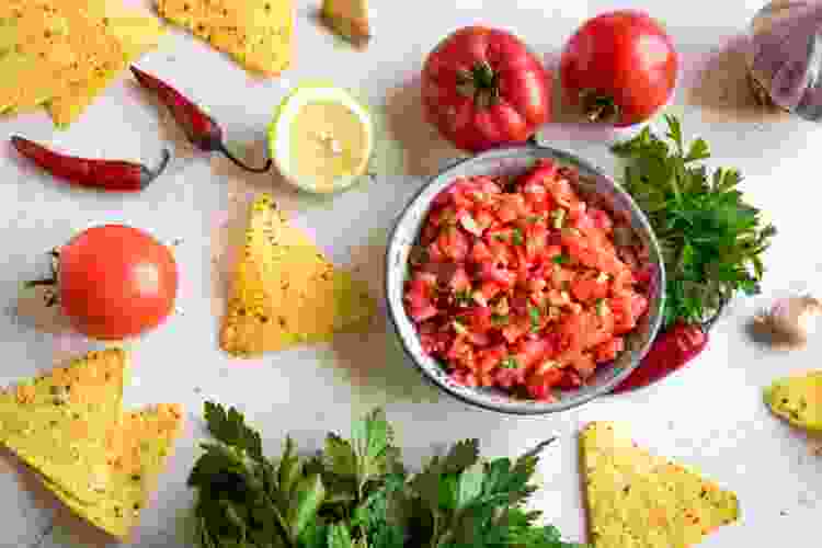
M 477 439 L 455 443 L 410 475 L 380 409 L 330 433 L 311 458 L 290 437 L 275 464 L 236 409 L 207 402 L 214 441 L 189 484 L 203 548 L 572 548 L 523 504 L 544 442 L 515 461 L 482 460 Z

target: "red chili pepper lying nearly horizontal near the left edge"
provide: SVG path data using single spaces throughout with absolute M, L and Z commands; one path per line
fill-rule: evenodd
M 81 186 L 111 192 L 138 192 L 149 185 L 169 164 L 171 153 L 163 150 L 157 169 L 119 160 L 94 160 L 66 156 L 20 136 L 12 136 L 14 148 L 52 175 Z

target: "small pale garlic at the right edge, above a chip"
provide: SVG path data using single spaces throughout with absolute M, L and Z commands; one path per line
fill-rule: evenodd
M 777 300 L 766 312 L 754 318 L 754 326 L 768 335 L 774 346 L 796 349 L 803 346 L 815 332 L 817 320 L 822 315 L 822 302 L 808 295 Z

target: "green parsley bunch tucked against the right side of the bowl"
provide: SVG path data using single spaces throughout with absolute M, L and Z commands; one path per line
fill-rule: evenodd
M 628 161 L 625 190 L 648 216 L 665 261 L 665 326 L 703 323 L 721 311 L 737 292 L 760 292 L 762 253 L 776 233 L 761 212 L 743 199 L 735 169 L 709 174 L 708 144 L 686 147 L 682 126 L 665 116 L 665 142 L 646 127 L 613 152 Z

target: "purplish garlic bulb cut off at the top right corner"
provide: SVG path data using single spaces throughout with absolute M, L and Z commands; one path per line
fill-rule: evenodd
M 769 2 L 750 33 L 747 68 L 757 98 L 822 119 L 822 1 Z

